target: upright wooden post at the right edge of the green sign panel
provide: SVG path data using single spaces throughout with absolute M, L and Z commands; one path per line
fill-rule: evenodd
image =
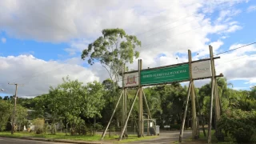
M 196 106 L 195 106 L 195 94 L 194 94 L 194 82 L 192 78 L 192 56 L 191 56 L 191 51 L 188 50 L 188 55 L 189 55 L 189 65 L 190 65 L 190 82 L 191 84 L 191 113 L 192 113 L 192 137 L 194 139 L 198 139 L 198 122 L 197 122 L 197 113 L 196 113 Z

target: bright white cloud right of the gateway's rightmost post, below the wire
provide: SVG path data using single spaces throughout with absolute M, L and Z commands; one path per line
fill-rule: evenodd
M 244 45 L 236 44 L 230 46 L 230 50 Z M 255 52 L 256 45 L 251 45 L 222 54 L 222 58 L 215 62 L 217 74 L 224 74 L 228 80 L 246 80 L 248 83 L 256 83 Z

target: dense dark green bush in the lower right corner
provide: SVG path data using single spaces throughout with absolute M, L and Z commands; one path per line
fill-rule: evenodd
M 225 130 L 238 143 L 253 142 L 256 134 L 256 112 L 227 110 L 218 121 L 218 127 Z

